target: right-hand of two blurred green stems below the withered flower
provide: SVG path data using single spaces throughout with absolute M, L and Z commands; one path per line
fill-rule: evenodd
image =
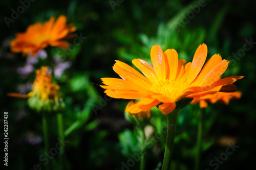
M 62 121 L 62 114 L 57 113 L 57 122 L 58 122 L 58 135 L 60 140 L 64 140 L 64 135 L 63 135 L 63 121 Z M 63 143 L 60 143 L 60 149 L 59 149 L 59 169 L 62 168 L 62 163 L 63 163 L 63 153 L 64 153 L 64 145 Z

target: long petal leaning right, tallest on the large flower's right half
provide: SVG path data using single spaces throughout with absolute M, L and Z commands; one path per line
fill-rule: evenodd
M 197 77 L 201 68 L 204 65 L 207 56 L 207 46 L 205 43 L 199 45 L 191 63 L 191 69 L 189 71 L 187 82 L 191 83 Z

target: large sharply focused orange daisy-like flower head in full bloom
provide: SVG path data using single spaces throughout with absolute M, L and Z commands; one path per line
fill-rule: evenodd
M 138 113 L 162 103 L 158 108 L 163 114 L 172 112 L 176 102 L 182 98 L 201 98 L 218 91 L 237 91 L 237 86 L 232 83 L 243 76 L 220 79 L 228 61 L 216 54 L 204 65 L 206 56 L 207 46 L 203 43 L 197 48 L 193 61 L 183 65 L 186 61 L 178 60 L 174 49 L 163 53 L 159 45 L 154 45 L 151 48 L 153 66 L 141 59 L 132 61 L 144 76 L 133 67 L 116 61 L 113 69 L 122 79 L 102 78 L 105 86 L 101 87 L 112 98 L 141 99 L 126 108 L 127 112 Z

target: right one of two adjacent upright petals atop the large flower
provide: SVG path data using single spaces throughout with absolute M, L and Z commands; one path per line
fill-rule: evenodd
M 168 49 L 164 52 L 165 61 L 168 64 L 168 79 L 174 80 L 178 70 L 178 53 L 174 49 Z

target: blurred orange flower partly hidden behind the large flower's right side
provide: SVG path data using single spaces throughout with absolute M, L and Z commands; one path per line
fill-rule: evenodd
M 200 108 L 207 108 L 208 106 L 207 102 L 210 102 L 210 103 L 220 102 L 225 105 L 228 105 L 231 99 L 238 100 L 241 98 L 241 95 L 242 93 L 240 91 L 235 91 L 231 93 L 217 92 L 215 94 L 206 95 L 200 99 L 194 99 L 191 102 L 191 104 L 199 103 Z

